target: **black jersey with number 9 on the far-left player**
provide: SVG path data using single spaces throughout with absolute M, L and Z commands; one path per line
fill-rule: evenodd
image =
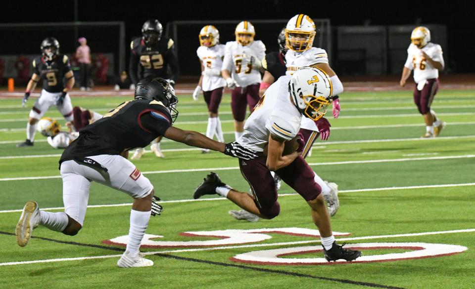
M 58 54 L 52 61 L 46 61 L 43 56 L 33 60 L 33 72 L 43 79 L 43 89 L 47 92 L 61 92 L 64 89 L 64 75 L 71 71 L 69 58 Z

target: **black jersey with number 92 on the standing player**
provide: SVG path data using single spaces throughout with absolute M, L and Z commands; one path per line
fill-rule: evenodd
M 148 76 L 177 81 L 178 60 L 173 50 L 173 40 L 162 37 L 153 45 L 146 45 L 142 38 L 130 43 L 132 49 L 129 63 L 129 75 L 134 84 Z M 139 72 L 140 63 L 140 72 Z M 168 69 L 170 67 L 170 71 Z

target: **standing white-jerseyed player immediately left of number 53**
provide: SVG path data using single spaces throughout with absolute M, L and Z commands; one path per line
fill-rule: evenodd
M 198 100 L 198 95 L 203 91 L 204 101 L 208 106 L 208 127 L 206 136 L 213 138 L 216 135 L 218 141 L 223 142 L 223 130 L 218 116 L 218 108 L 223 97 L 223 89 L 226 81 L 221 77 L 223 66 L 224 44 L 219 44 L 219 31 L 213 25 L 206 25 L 199 32 L 200 46 L 196 50 L 201 63 L 201 77 L 198 86 L 193 91 L 193 99 Z M 202 153 L 209 150 L 202 149 Z

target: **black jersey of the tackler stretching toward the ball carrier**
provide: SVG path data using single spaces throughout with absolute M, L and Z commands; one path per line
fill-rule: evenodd
M 64 150 L 59 164 L 78 157 L 119 155 L 125 150 L 146 147 L 171 125 L 170 112 L 161 102 L 124 102 L 82 128 L 79 137 Z

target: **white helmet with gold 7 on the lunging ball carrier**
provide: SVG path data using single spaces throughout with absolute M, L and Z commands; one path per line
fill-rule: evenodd
M 327 73 L 320 68 L 304 66 L 295 71 L 288 90 L 295 107 L 305 117 L 317 121 L 327 113 L 333 85 Z

